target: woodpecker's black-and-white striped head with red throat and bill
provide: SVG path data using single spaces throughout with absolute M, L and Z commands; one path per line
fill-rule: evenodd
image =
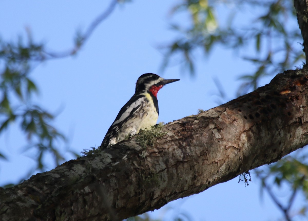
M 180 79 L 164 79 L 159 77 L 157 74 L 147 73 L 141 75 L 136 82 L 136 91 L 135 94 L 141 94 L 144 92 L 151 92 L 155 97 L 157 92 L 164 85 L 180 81 Z

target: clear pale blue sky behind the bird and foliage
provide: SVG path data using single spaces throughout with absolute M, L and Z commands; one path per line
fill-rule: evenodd
M 170 30 L 168 17 L 176 3 L 152 0 L 117 6 L 76 56 L 46 61 L 31 73 L 30 78 L 39 87 L 35 102 L 57 115 L 54 125 L 69 139 L 67 144 L 59 144 L 67 160 L 73 157 L 66 152 L 67 148 L 81 152 L 100 145 L 118 111 L 134 94 L 136 80 L 143 73 L 181 79 L 159 91 L 158 122 L 168 123 L 196 114 L 198 108 L 208 110 L 217 106 L 214 78 L 221 81 L 227 97 L 234 98 L 240 85 L 237 78 L 253 66 L 225 48 L 215 47 L 206 59 L 196 56 L 194 77 L 181 72 L 179 65 L 160 72 L 163 57 L 157 47 L 176 36 Z M 53 51 L 65 51 L 72 47 L 75 31 L 85 30 L 108 4 L 109 1 L 2 0 L 0 35 L 3 40 L 14 41 L 17 35 L 25 36 L 25 29 L 29 28 L 35 41 L 47 43 Z M 182 19 L 187 22 L 185 16 Z M 270 78 L 264 79 L 259 86 L 269 81 Z M 23 151 L 25 146 L 18 125 L 0 135 L 1 152 L 9 159 L 0 161 L 0 185 L 17 182 L 35 165 L 33 151 Z M 53 159 L 46 160 L 50 162 L 48 170 L 53 169 Z M 266 194 L 261 200 L 260 184 L 257 178 L 252 179 L 253 183 L 245 186 L 235 178 L 201 194 L 171 202 L 152 214 L 164 214 L 164 220 L 180 212 L 188 212 L 193 220 L 277 220 L 280 212 Z M 286 194 L 284 190 L 281 196 Z M 168 207 L 174 210 L 165 212 Z

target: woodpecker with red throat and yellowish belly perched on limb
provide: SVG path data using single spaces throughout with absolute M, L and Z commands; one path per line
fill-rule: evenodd
M 149 129 L 158 119 L 157 92 L 166 84 L 180 79 L 166 80 L 157 74 L 141 75 L 136 82 L 136 91 L 121 108 L 115 121 L 109 127 L 100 148 L 105 148 L 124 140 L 129 135 Z

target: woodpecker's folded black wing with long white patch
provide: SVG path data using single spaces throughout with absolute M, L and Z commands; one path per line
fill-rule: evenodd
M 109 127 L 106 136 L 100 148 L 105 148 L 109 145 L 112 138 L 117 137 L 117 134 L 122 125 L 133 116 L 133 113 L 141 108 L 143 95 L 134 95 L 131 99 L 121 108 L 119 114 L 116 116 L 115 121 Z

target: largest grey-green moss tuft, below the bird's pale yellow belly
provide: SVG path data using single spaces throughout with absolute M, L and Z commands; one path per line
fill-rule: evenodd
M 163 132 L 162 129 L 164 123 L 160 122 L 151 127 L 149 130 L 140 130 L 136 137 L 137 142 L 144 148 L 148 146 L 154 146 L 156 140 L 160 140 L 167 132 Z

